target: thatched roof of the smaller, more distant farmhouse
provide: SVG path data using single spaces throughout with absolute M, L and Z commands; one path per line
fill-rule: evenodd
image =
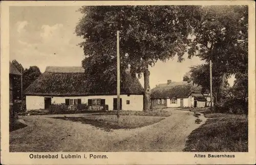
M 161 84 L 151 90 L 151 98 L 187 98 L 192 92 L 200 93 L 201 86 L 193 82 L 170 82 Z

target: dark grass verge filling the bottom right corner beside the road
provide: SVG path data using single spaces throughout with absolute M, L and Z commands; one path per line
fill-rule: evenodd
M 183 151 L 248 152 L 248 119 L 245 115 L 209 113 L 205 116 L 211 119 L 191 132 Z

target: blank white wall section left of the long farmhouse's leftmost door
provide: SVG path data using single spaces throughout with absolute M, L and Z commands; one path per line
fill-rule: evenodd
M 26 96 L 27 110 L 44 109 L 45 97 L 41 96 Z

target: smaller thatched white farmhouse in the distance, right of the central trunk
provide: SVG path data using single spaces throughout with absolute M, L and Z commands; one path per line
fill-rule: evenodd
M 201 86 L 193 82 L 159 84 L 151 90 L 152 107 L 206 107 L 210 104 L 209 93 L 202 93 Z

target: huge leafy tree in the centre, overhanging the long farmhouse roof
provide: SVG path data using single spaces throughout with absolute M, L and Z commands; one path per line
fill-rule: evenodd
M 175 55 L 181 61 L 185 41 L 191 28 L 194 11 L 199 6 L 88 6 L 79 11 L 83 14 L 75 33 L 84 41 L 83 67 L 96 86 L 104 80 L 115 84 L 116 31 L 120 31 L 121 70 L 131 64 L 133 76 L 144 75 L 143 109 L 150 109 L 149 66 Z M 190 13 L 189 15 L 187 13 Z M 94 70 L 92 70 L 92 68 Z M 98 78 L 96 78 L 95 74 Z M 90 75 L 91 74 L 91 75 Z M 104 75 L 101 78 L 101 75 Z

